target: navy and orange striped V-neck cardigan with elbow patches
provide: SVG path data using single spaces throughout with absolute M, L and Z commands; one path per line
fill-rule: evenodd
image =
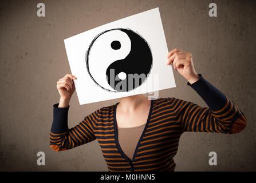
M 246 126 L 242 111 L 200 74 L 188 83 L 209 108 L 174 97 L 151 101 L 148 120 L 137 143 L 132 161 L 117 139 L 116 106 L 107 106 L 68 128 L 68 109 L 54 104 L 50 147 L 56 151 L 72 149 L 97 140 L 110 172 L 174 171 L 174 156 L 183 132 L 238 133 Z

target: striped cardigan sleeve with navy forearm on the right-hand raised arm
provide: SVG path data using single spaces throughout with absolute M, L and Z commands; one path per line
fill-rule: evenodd
M 196 93 L 206 102 L 208 108 L 203 108 L 192 102 L 186 102 L 180 117 L 185 132 L 216 132 L 238 133 L 246 126 L 243 112 L 225 94 L 199 74 L 200 79 L 192 85 Z

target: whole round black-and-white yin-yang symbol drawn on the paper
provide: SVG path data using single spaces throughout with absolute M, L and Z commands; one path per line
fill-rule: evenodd
M 86 68 L 96 85 L 108 92 L 129 92 L 142 85 L 152 68 L 145 39 L 131 29 L 98 34 L 86 51 Z

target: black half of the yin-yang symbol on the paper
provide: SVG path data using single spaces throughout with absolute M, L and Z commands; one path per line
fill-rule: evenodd
M 124 59 L 111 63 L 107 68 L 106 76 L 109 85 L 114 90 L 129 92 L 139 87 L 147 79 L 152 66 L 152 53 L 148 43 L 139 34 L 129 29 L 119 30 L 126 33 L 131 39 L 131 51 Z M 113 40 L 112 48 L 118 49 L 119 46 L 122 45 L 119 45 L 118 40 Z M 123 80 L 119 78 L 121 72 L 126 74 Z

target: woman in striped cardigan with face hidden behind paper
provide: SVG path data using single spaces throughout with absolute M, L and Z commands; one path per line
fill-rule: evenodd
M 69 129 L 69 101 L 76 77 L 66 74 L 57 82 L 60 102 L 53 105 L 50 147 L 68 150 L 97 140 L 109 171 L 174 171 L 183 132 L 232 134 L 245 128 L 246 118 L 238 106 L 196 73 L 191 53 L 174 49 L 167 59 L 167 65 L 173 63 L 208 108 L 174 97 L 148 100 L 139 94 L 120 98 Z

